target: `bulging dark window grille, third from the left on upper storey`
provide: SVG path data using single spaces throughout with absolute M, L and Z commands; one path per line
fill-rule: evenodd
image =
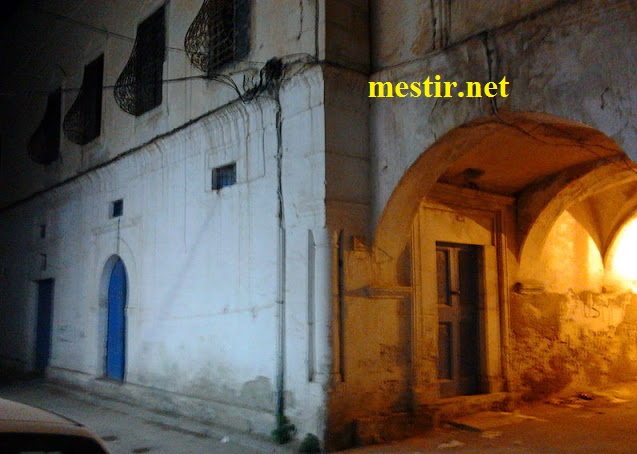
M 139 116 L 162 102 L 162 73 L 166 56 L 164 7 L 137 27 L 133 51 L 115 83 L 115 101 Z

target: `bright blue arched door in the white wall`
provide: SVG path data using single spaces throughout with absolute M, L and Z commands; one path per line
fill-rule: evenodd
M 108 326 L 106 335 L 106 377 L 124 381 L 126 365 L 127 280 L 124 262 L 117 259 L 108 282 Z

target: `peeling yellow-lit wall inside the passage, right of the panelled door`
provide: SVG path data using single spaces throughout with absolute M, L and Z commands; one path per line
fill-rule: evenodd
M 511 383 L 526 400 L 637 376 L 637 295 L 604 291 L 590 233 L 568 212 L 551 229 L 535 289 L 511 293 Z

